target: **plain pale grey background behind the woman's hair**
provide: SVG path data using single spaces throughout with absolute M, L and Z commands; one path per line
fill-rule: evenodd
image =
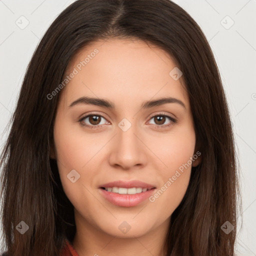
M 0 0 L 0 149 L 31 55 L 51 22 L 71 2 Z M 241 167 L 243 213 L 237 255 L 256 255 L 256 0 L 174 2 L 202 28 L 219 67 Z M 25 22 L 28 25 L 21 27 Z

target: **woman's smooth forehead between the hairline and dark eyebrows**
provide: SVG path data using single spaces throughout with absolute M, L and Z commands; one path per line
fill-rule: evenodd
M 62 89 L 65 104 L 80 96 L 131 104 L 152 97 L 175 96 L 188 103 L 177 68 L 169 54 L 140 40 L 108 39 L 86 45 L 69 62 L 64 77 L 75 73 Z M 61 93 L 61 94 L 62 94 Z

